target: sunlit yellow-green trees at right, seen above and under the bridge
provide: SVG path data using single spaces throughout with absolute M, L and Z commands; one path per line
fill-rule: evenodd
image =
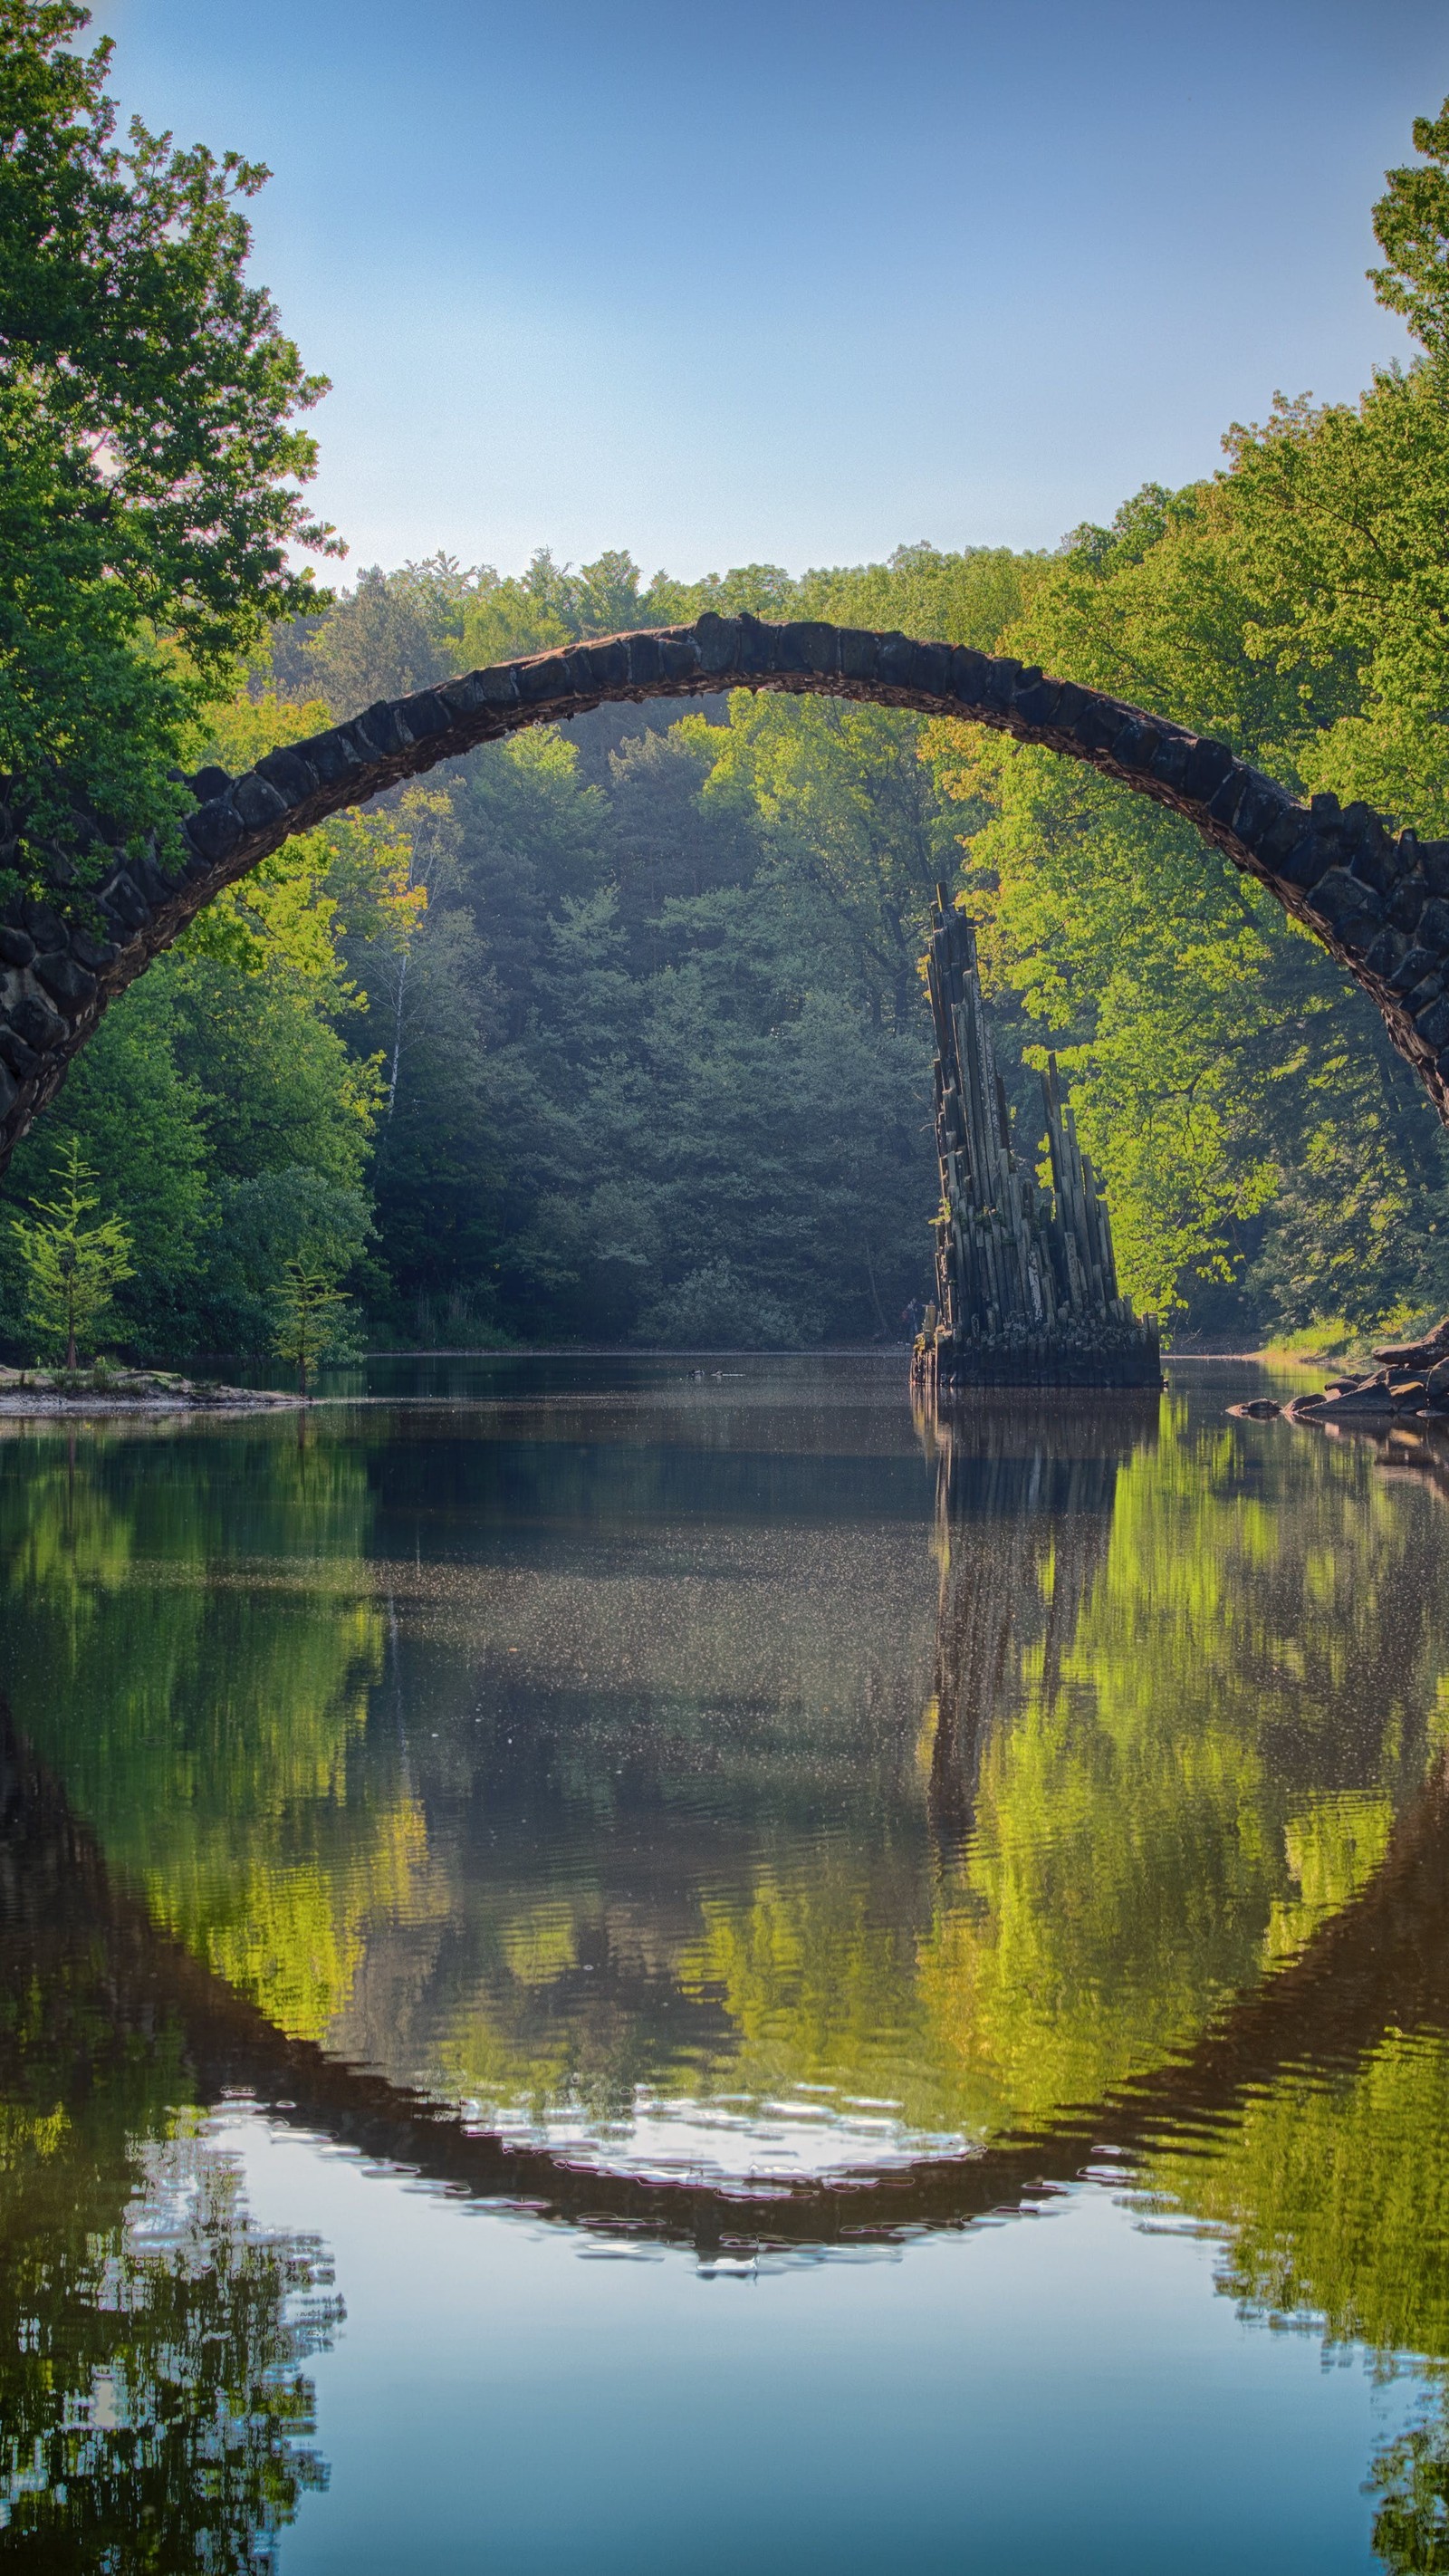
M 1228 464 L 1037 562 L 1011 652 L 1161 708 L 1297 793 L 1449 829 L 1449 410 L 1434 350 L 1444 134 L 1374 209 L 1426 358 L 1279 399 Z M 1439 281 L 1439 283 L 1436 283 Z M 970 904 L 1019 1033 L 1063 1054 L 1125 1283 L 1202 1329 L 1356 1327 L 1449 1298 L 1449 1151 L 1364 994 L 1228 860 L 1122 788 L 965 729 Z

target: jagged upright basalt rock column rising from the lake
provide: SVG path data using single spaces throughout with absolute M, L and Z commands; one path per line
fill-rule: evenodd
M 937 889 L 927 984 L 937 1028 L 937 1298 L 914 1383 L 1161 1386 L 1158 1327 L 1117 1288 L 1112 1224 L 1058 1082 L 1042 1077 L 1053 1188 L 1011 1141 L 981 999 L 975 930 Z

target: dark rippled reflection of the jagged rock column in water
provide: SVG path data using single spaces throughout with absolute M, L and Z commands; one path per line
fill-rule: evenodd
M 1009 1710 L 1022 1651 L 1042 1649 L 1055 1695 L 1081 1607 L 1112 1538 L 1117 1468 L 1156 1440 L 1158 1404 L 981 1401 L 919 1414 L 937 1461 L 937 1659 L 921 1731 L 942 1860 L 975 1821 L 981 1757 Z

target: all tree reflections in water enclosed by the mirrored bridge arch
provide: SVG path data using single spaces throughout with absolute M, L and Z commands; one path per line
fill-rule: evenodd
M 553 1445 L 592 1530 L 613 1466 Z M 898 1458 L 842 1502 L 806 1443 L 754 1525 L 734 1453 L 643 1443 L 638 1522 L 692 1522 L 558 1564 L 548 1443 L 497 1492 L 440 1440 L 33 1448 L 23 1718 L 111 1868 L 281 2030 L 535 2117 L 826 2087 L 1050 2125 L 1351 1899 L 1444 1723 L 1418 1497 L 1181 1406 L 939 1432 L 934 1654 L 880 1625 L 880 1569 L 927 1571 Z M 430 1492 L 533 1517 L 409 1564 Z

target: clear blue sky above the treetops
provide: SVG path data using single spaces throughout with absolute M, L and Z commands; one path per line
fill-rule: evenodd
M 275 178 L 350 569 L 1053 546 L 1403 330 L 1369 206 L 1444 0 L 100 0 Z

